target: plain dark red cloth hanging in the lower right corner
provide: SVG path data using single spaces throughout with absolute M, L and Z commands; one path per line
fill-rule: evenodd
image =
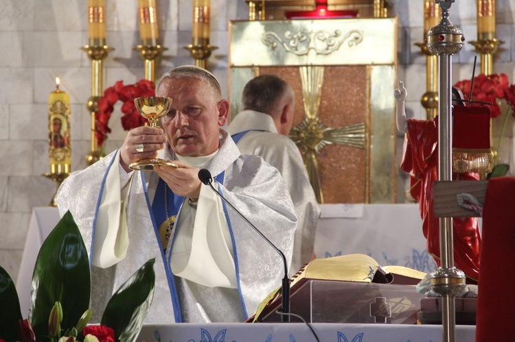
M 476 342 L 514 341 L 515 178 L 488 181 L 483 206 Z

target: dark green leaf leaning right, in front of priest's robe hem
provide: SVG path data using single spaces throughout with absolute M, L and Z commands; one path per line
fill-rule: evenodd
M 117 341 L 135 341 L 148 314 L 155 286 L 155 258 L 130 276 L 107 303 L 101 323 L 115 330 Z

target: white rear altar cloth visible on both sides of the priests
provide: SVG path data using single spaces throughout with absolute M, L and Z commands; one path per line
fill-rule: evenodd
M 321 209 L 314 243 L 318 258 L 361 253 L 383 266 L 402 265 L 424 272 L 435 269 L 427 254 L 418 204 L 323 204 Z M 16 282 L 23 317 L 28 314 L 36 256 L 59 219 L 54 207 L 32 211 Z M 290 270 L 290 276 L 296 271 Z

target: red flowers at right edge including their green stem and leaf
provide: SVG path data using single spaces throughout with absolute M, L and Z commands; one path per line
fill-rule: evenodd
M 496 151 L 499 152 L 501 150 L 501 142 L 503 141 L 507 119 L 510 117 L 510 113 L 515 117 L 515 84 L 510 85 L 507 75 L 501 73 L 499 75 L 478 75 L 474 77 L 473 86 L 471 80 L 459 81 L 455 86 L 464 93 L 466 100 L 470 99 L 470 88 L 472 87 L 473 100 L 492 103 L 491 105 L 470 103 L 470 106 L 490 106 L 490 117 L 492 119 L 501 116 L 500 103 L 501 100 L 506 101 L 507 109 L 503 118 L 499 143 L 496 147 Z M 488 178 L 506 175 L 508 172 L 509 166 L 507 164 L 498 164 L 498 158 L 499 153 L 496 153 L 494 157 L 494 169 L 488 175 Z

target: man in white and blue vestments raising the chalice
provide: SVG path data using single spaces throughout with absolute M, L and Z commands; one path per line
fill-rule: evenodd
M 244 321 L 281 285 L 282 258 L 209 186 L 214 186 L 290 265 L 297 217 L 274 167 L 242 156 L 225 125 L 229 103 L 205 69 L 179 66 L 157 82 L 172 98 L 159 127 L 128 132 L 120 149 L 62 183 L 56 203 L 75 218 L 92 265 L 91 306 L 100 319 L 118 287 L 150 258 L 156 286 L 148 323 Z M 155 156 L 176 167 L 132 171 Z

